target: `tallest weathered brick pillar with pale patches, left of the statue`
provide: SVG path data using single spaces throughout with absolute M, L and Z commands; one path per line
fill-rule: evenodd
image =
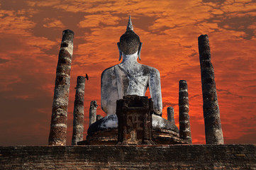
M 59 60 L 52 103 L 49 145 L 66 145 L 67 106 L 69 101 L 70 70 L 73 55 L 74 32 L 64 30 L 60 45 Z

